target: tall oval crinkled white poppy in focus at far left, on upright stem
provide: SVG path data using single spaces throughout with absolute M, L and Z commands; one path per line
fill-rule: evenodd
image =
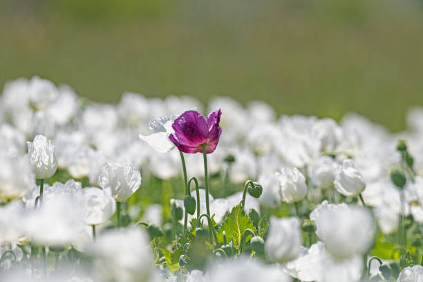
M 57 169 L 55 145 L 43 135 L 28 144 L 28 158 L 37 179 L 50 178 Z

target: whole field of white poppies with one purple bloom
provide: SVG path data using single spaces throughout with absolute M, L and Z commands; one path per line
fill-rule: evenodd
M 423 281 L 423 108 L 406 120 L 8 82 L 0 281 Z

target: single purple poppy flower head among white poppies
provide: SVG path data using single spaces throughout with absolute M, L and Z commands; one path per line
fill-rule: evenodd
M 203 144 L 206 145 L 206 153 L 213 153 L 222 133 L 219 127 L 221 114 L 218 109 L 209 113 L 206 120 L 197 111 L 186 111 L 173 122 L 175 133 L 169 135 L 169 140 L 184 153 L 203 152 Z

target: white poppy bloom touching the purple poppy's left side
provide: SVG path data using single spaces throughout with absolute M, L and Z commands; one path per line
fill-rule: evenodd
M 141 140 L 147 142 L 149 146 L 159 153 L 167 153 L 175 147 L 170 140 L 169 135 L 173 133 L 172 124 L 176 119 L 176 116 L 168 118 L 166 116 L 151 120 L 149 123 L 149 129 L 151 135 L 138 135 Z

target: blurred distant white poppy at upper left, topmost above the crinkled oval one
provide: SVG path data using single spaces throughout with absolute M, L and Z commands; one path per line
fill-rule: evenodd
M 57 97 L 57 92 L 55 84 L 50 80 L 35 76 L 28 82 L 29 104 L 36 111 L 46 109 Z

